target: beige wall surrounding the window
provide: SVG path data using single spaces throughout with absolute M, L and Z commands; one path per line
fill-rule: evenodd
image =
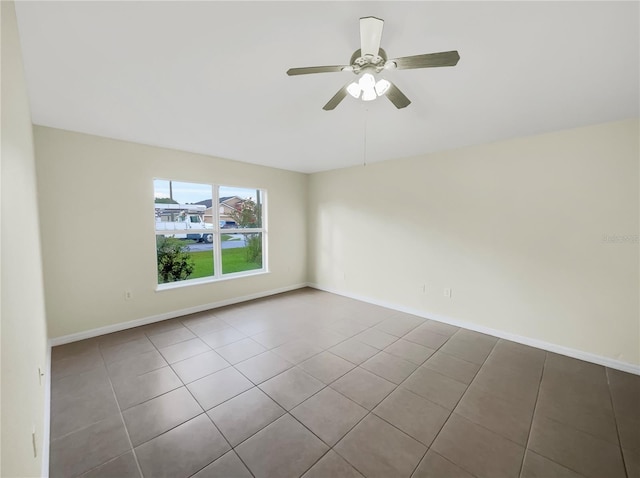
M 38 126 L 35 145 L 50 337 L 306 281 L 306 175 Z M 270 273 L 156 292 L 154 177 L 265 188 Z

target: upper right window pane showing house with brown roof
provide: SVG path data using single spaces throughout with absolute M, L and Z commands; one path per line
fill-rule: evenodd
M 262 227 L 264 192 L 260 189 L 220 186 L 220 227 Z

